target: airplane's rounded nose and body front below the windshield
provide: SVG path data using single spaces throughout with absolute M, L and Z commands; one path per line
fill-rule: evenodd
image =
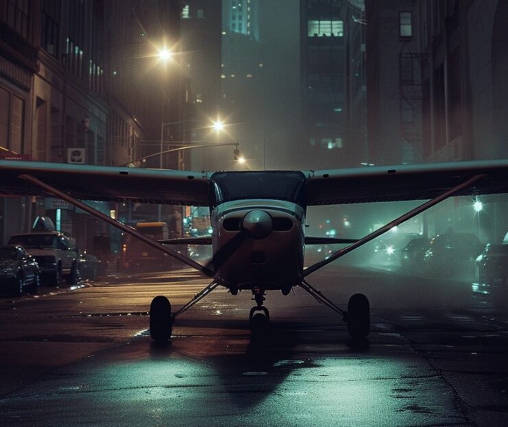
M 213 209 L 211 220 L 214 259 L 225 251 L 215 265 L 217 282 L 232 290 L 287 293 L 301 281 L 305 242 L 301 206 L 274 199 L 237 200 Z

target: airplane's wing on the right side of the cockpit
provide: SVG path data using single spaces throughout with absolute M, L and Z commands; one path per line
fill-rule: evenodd
M 307 204 L 433 199 L 477 175 L 485 176 L 457 195 L 508 193 L 508 160 L 486 160 L 311 171 Z

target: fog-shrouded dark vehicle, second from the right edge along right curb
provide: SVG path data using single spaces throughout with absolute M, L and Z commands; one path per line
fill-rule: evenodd
M 426 271 L 431 275 L 471 279 L 482 249 L 482 243 L 472 233 L 447 231 L 437 234 L 425 253 Z

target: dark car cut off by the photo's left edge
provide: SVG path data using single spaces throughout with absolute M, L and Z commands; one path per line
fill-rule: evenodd
M 0 291 L 10 295 L 38 293 L 39 267 L 21 245 L 0 246 Z

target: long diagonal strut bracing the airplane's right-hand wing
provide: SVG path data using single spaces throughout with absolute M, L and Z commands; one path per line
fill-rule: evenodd
M 317 271 L 320 268 L 324 267 L 325 265 L 332 263 L 332 261 L 335 261 L 338 258 L 341 258 L 341 256 L 348 254 L 349 252 L 356 249 L 357 247 L 360 247 L 361 245 L 365 245 L 365 243 L 372 241 L 372 239 L 376 239 L 376 237 L 387 232 L 388 230 L 391 230 L 391 228 L 394 228 L 396 225 L 400 225 L 404 221 L 407 221 L 408 219 L 415 217 L 416 215 L 424 212 L 424 210 L 427 210 L 428 208 L 432 208 L 432 206 L 435 206 L 439 202 L 442 202 L 444 199 L 448 199 L 448 197 L 451 197 L 452 195 L 456 195 L 457 193 L 460 193 L 461 191 L 465 190 L 466 188 L 469 188 L 470 186 L 472 186 L 475 182 L 485 178 L 485 176 L 487 176 L 487 175 L 475 175 L 474 177 L 470 178 L 469 180 L 464 181 L 462 184 L 459 184 L 453 188 L 450 188 L 449 190 L 444 191 L 444 193 L 438 195 L 437 197 L 434 197 L 433 199 L 428 200 L 428 202 L 425 202 L 424 204 L 421 204 L 417 208 L 410 210 L 409 212 L 405 213 L 404 215 L 401 215 L 400 217 L 394 219 L 394 221 L 387 223 L 386 225 L 379 228 L 378 230 L 376 230 L 370 234 L 367 234 L 367 236 L 363 237 L 363 239 L 359 239 L 359 241 L 352 243 L 352 245 L 349 245 L 348 247 L 344 247 L 343 249 L 339 249 L 337 252 L 330 255 L 330 257 L 327 258 L 326 260 L 319 261 L 319 263 L 315 263 L 315 264 L 307 267 L 306 269 L 304 269 L 303 277 L 309 276 L 309 274 L 314 273 L 314 271 Z

